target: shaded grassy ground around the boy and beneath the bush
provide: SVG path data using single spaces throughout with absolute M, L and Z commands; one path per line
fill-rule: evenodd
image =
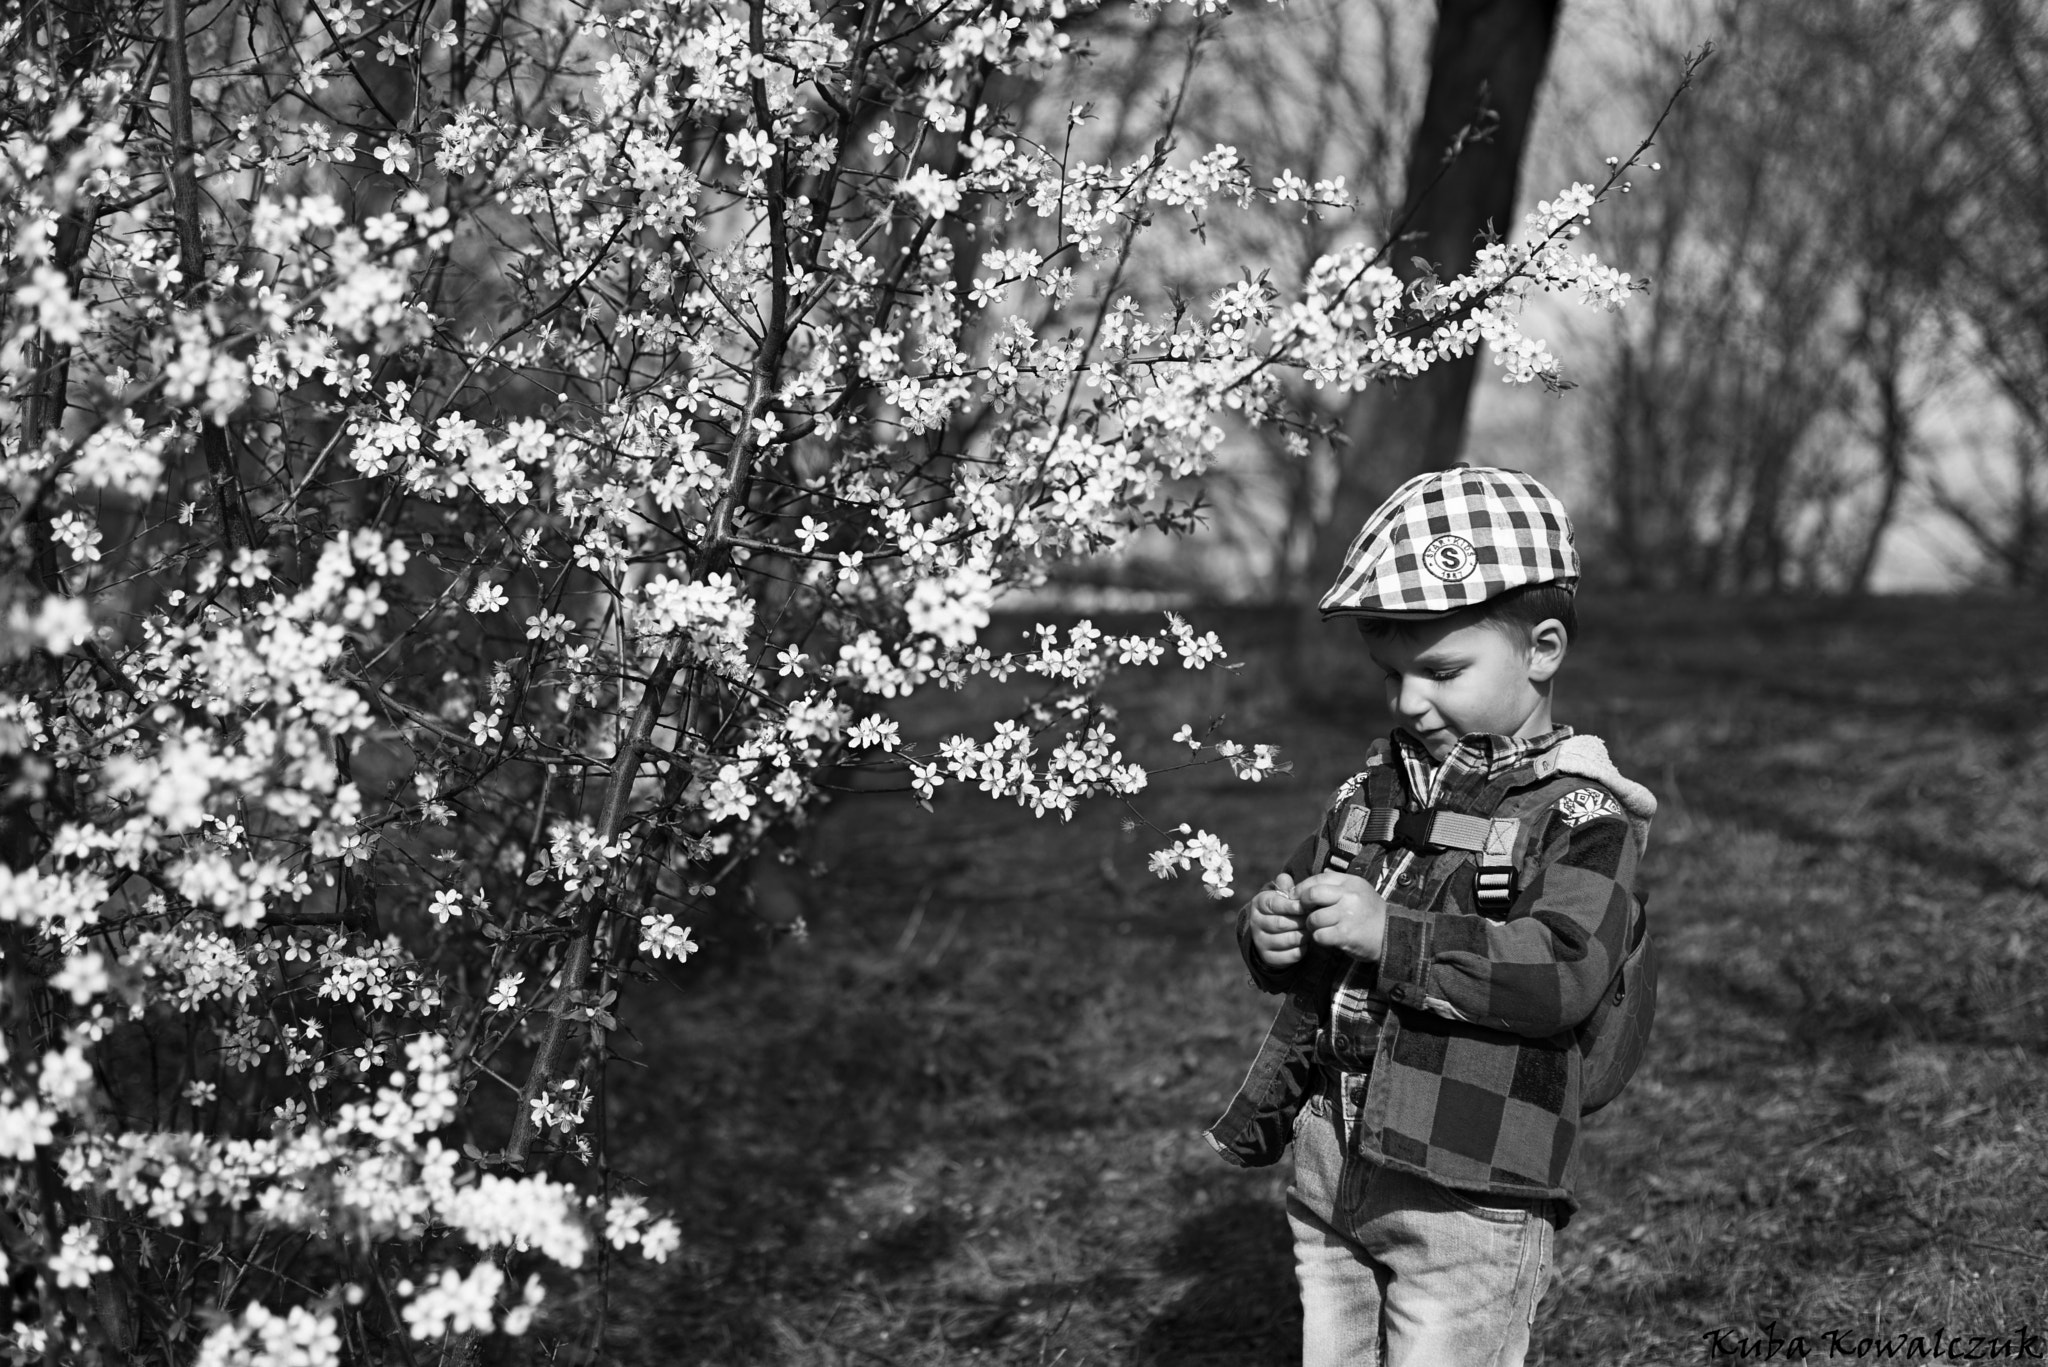
M 1149 801 L 1225 834 L 1249 892 L 1382 719 L 1364 674 L 1290 703 L 1272 619 L 1206 617 L 1245 668 L 1130 715 L 1229 709 L 1286 746 L 1288 779 Z M 1593 600 L 1587 627 L 1561 719 L 1663 799 L 1663 1004 L 1587 1127 L 1532 1361 L 1712 1361 L 1704 1334 L 1761 1322 L 2048 1330 L 2038 609 Z M 1149 879 L 1147 848 L 1110 810 L 842 803 L 809 939 L 733 935 L 633 1012 L 614 1150 L 686 1236 L 621 1277 L 610 1355 L 1292 1361 L 1284 1168 L 1198 1133 L 1270 1000 L 1227 908 Z

